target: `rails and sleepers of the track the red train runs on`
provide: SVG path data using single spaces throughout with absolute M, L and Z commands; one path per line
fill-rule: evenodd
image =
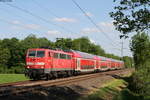
M 127 69 L 126 69 L 127 70 Z M 0 85 L 0 96 L 8 96 L 12 94 L 23 93 L 27 91 L 32 91 L 36 89 L 40 89 L 42 87 L 49 87 L 55 85 L 68 85 L 78 81 L 84 81 L 91 78 L 101 77 L 104 75 L 110 74 L 122 74 L 124 70 L 115 70 L 115 71 L 108 71 L 108 72 L 101 72 L 101 73 L 94 73 L 94 74 L 86 74 L 80 76 L 72 76 L 68 78 L 56 79 L 56 80 L 49 80 L 49 81 L 22 81 L 22 82 L 14 82 L 14 83 L 7 83 Z

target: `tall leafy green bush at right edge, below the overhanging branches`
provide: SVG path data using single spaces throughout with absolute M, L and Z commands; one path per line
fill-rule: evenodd
M 136 72 L 131 77 L 129 88 L 144 97 L 150 96 L 150 36 L 145 33 L 133 36 L 131 50 Z

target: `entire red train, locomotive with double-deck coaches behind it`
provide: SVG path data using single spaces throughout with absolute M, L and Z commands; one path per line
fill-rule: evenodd
M 43 77 L 51 79 L 115 67 L 123 67 L 123 62 L 75 50 L 66 52 L 61 49 L 36 48 L 27 51 L 25 75 L 34 80 Z

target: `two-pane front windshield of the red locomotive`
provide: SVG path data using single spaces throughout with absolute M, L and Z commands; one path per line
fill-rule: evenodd
M 44 57 L 45 51 L 29 51 L 28 57 Z

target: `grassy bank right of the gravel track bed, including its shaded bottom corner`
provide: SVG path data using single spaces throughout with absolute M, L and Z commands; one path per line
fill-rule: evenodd
M 150 100 L 150 96 L 143 97 L 127 88 L 130 76 L 131 73 L 124 77 L 115 78 L 103 85 L 98 91 L 81 97 L 79 100 Z

